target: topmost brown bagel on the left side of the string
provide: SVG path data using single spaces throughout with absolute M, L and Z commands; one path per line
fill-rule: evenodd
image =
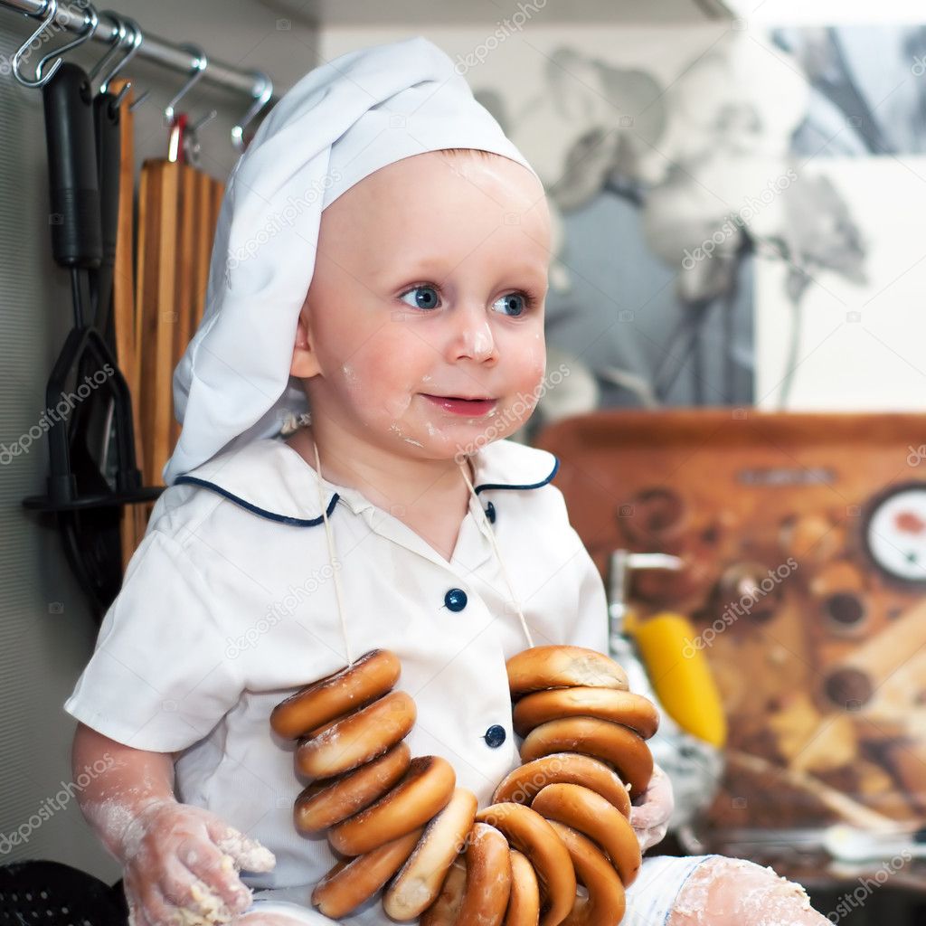
M 301 688 L 270 712 L 270 726 L 286 739 L 334 720 L 369 704 L 390 691 L 402 670 L 399 658 L 388 649 L 371 649 L 318 682 Z

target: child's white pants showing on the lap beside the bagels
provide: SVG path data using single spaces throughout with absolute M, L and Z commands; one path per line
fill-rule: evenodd
M 702 862 L 715 856 L 651 856 L 645 857 L 636 881 L 627 889 L 627 912 L 620 926 L 665 926 L 669 913 L 675 906 L 675 899 L 682 885 Z M 315 907 L 305 907 L 293 900 L 283 899 L 295 892 L 310 894 L 306 887 L 256 891 L 254 903 L 247 913 L 281 913 L 305 923 L 306 926 L 331 926 L 329 920 Z M 377 902 L 379 897 L 377 896 Z M 387 920 L 383 914 L 383 921 Z

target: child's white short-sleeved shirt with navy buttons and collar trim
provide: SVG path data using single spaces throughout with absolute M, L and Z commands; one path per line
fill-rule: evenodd
M 480 807 L 520 764 L 505 661 L 527 647 L 477 506 L 490 521 L 534 644 L 607 653 L 604 583 L 551 483 L 553 454 L 499 440 L 472 458 L 473 486 L 450 561 L 353 488 L 322 480 L 351 655 L 401 660 L 396 689 L 418 719 L 413 756 L 440 755 Z M 461 477 L 462 478 L 462 477 Z M 315 469 L 280 438 L 226 451 L 158 498 L 65 703 L 137 749 L 182 750 L 175 788 L 266 845 L 250 887 L 309 904 L 336 857 L 294 829 L 305 782 L 294 743 L 269 726 L 282 699 L 346 664 Z M 295 890 L 292 890 L 295 889 Z M 390 922 L 373 897 L 351 921 Z

